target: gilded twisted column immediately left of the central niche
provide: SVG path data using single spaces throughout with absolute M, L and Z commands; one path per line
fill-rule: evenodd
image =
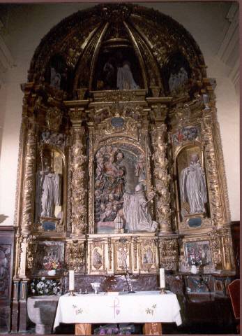
M 72 154 L 70 169 L 72 172 L 71 179 L 71 225 L 73 235 L 85 235 L 87 230 L 87 211 L 86 211 L 86 155 L 84 155 L 84 134 L 82 127 L 82 114 L 84 109 L 75 107 L 70 109 L 70 120 L 72 127 Z

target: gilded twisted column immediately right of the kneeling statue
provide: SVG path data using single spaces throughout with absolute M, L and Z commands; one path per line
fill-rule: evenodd
M 167 107 L 165 105 L 157 104 L 153 106 L 155 125 L 153 125 L 153 130 L 151 130 L 151 141 L 153 146 L 153 176 L 156 187 L 156 220 L 160 225 L 160 235 L 172 233 L 169 193 L 169 181 L 171 178 L 167 172 L 168 160 L 166 158 L 166 113 Z

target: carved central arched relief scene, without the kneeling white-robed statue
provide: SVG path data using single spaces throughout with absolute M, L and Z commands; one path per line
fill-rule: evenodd
M 146 190 L 146 158 L 142 148 L 113 139 L 94 155 L 94 223 L 96 233 L 128 232 L 123 195 Z M 119 215 L 121 218 L 117 218 Z M 118 220 L 120 219 L 120 223 Z

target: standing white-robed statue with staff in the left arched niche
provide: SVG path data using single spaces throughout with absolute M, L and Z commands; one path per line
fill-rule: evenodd
M 37 218 L 54 218 L 56 205 L 61 205 L 61 177 L 52 172 L 47 158 L 43 158 L 43 169 L 36 176 Z

